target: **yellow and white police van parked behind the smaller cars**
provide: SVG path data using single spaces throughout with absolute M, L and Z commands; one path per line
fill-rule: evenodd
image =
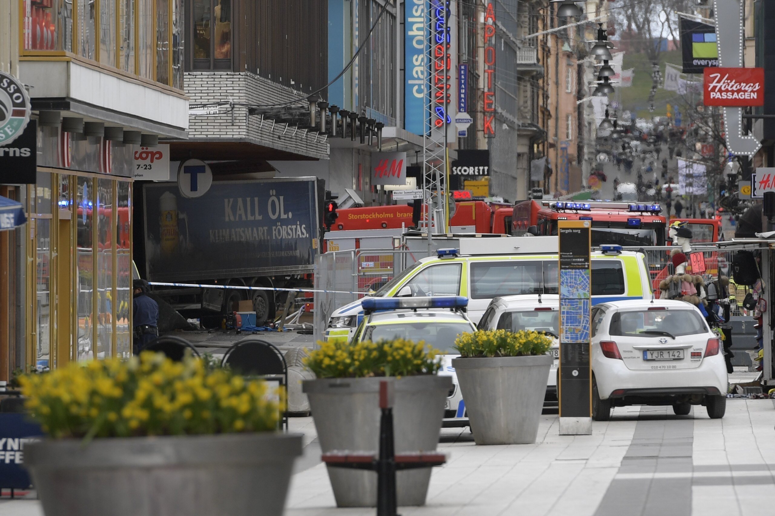
M 474 324 L 494 298 L 559 294 L 558 237 L 515 236 L 499 239 L 461 238 L 455 249 L 438 249 L 418 260 L 374 294 L 332 312 L 325 339 L 352 339 L 370 298 L 461 296 L 468 298 Z M 646 255 L 608 245 L 592 249 L 593 304 L 625 299 L 651 299 Z

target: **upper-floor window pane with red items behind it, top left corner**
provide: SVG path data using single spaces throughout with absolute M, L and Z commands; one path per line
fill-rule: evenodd
M 24 0 L 24 49 L 73 50 L 73 3 Z

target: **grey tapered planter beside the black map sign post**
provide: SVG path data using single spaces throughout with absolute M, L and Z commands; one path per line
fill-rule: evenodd
M 536 442 L 552 360 L 549 355 L 452 360 L 477 445 Z

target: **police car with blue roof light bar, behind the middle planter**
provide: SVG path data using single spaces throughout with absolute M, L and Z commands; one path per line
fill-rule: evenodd
M 452 359 L 460 356 L 453 348 L 458 335 L 476 331 L 466 316 L 467 298 L 364 298 L 363 321 L 355 341 L 408 339 L 424 341 L 441 351 L 439 375 L 452 377 L 446 398 L 444 426 L 468 426 L 463 395 L 457 385 Z

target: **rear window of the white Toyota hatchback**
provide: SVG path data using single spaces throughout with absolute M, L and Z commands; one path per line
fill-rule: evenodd
M 707 333 L 708 325 L 698 311 L 676 310 L 637 310 L 618 311 L 611 317 L 611 335 L 626 337 L 666 336 L 680 337 Z

